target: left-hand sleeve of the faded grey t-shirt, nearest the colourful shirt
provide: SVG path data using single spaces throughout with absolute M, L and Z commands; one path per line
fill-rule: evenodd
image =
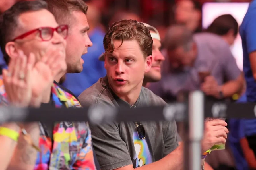
M 117 123 L 90 125 L 94 150 L 102 170 L 132 164 L 125 142 L 119 135 Z

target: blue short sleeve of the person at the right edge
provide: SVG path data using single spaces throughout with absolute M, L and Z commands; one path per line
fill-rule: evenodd
M 255 10 L 254 10 L 255 11 Z M 251 11 L 253 12 L 253 11 Z M 256 12 L 251 14 L 251 19 L 247 21 L 245 26 L 245 36 L 246 36 L 246 45 L 247 52 L 251 53 L 256 50 L 256 22 L 255 22 Z

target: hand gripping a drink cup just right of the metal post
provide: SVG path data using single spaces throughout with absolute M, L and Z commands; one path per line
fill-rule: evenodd
M 228 124 L 220 119 L 205 121 L 205 132 L 202 140 L 202 153 L 210 149 L 213 145 L 226 143 Z

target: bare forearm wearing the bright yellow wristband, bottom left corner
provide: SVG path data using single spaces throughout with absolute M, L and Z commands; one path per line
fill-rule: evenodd
M 1 126 L 15 130 L 16 132 L 19 132 L 20 130 L 16 123 L 6 123 Z M 17 146 L 17 142 L 7 136 L 0 136 L 0 141 L 0 169 L 6 169 L 11 161 L 13 151 Z

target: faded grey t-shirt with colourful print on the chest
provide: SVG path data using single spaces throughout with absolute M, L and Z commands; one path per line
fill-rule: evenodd
M 78 97 L 83 106 L 108 105 L 130 107 L 118 98 L 108 86 L 107 78 L 86 89 Z M 135 106 L 165 105 L 149 89 L 142 87 Z M 136 109 L 136 108 L 135 108 Z M 133 168 L 158 161 L 177 148 L 177 126 L 171 122 L 141 122 L 146 138 L 138 137 L 135 122 L 90 125 L 96 156 L 102 170 L 111 170 L 133 164 Z

